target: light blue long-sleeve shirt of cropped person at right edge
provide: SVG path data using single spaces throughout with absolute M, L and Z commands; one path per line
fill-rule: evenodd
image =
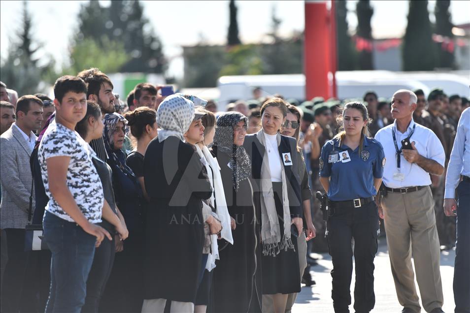
M 444 198 L 454 198 L 460 174 L 470 177 L 470 108 L 462 112 L 445 176 Z

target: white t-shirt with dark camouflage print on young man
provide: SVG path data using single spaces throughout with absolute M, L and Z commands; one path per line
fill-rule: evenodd
M 70 222 L 74 220 L 59 206 L 49 190 L 46 160 L 54 156 L 70 157 L 67 187 L 85 218 L 91 223 L 99 223 L 104 199 L 103 187 L 93 165 L 89 147 L 76 131 L 57 124 L 54 120 L 44 133 L 37 152 L 42 182 L 49 197 L 45 209 Z

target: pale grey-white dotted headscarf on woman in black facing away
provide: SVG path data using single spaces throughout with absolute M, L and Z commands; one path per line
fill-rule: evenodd
M 194 118 L 194 103 L 179 94 L 171 94 L 160 103 L 157 110 L 158 140 L 175 136 L 184 141 Z

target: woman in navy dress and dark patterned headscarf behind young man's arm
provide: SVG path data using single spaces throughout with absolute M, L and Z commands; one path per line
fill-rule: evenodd
M 103 140 L 107 162 L 112 169 L 114 197 L 129 229 L 129 238 L 116 238 L 114 265 L 101 300 L 105 312 L 138 312 L 142 307 L 142 253 L 144 212 L 142 189 L 122 151 L 124 136 L 129 132 L 127 120 L 118 113 L 103 118 Z

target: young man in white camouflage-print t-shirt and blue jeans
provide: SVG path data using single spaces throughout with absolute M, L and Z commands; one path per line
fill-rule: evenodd
M 75 131 L 87 112 L 87 86 L 75 76 L 54 85 L 55 120 L 38 150 L 41 176 L 49 202 L 44 213 L 44 239 L 51 250 L 51 288 L 46 312 L 80 312 L 95 247 L 109 233 L 101 222 L 103 188 L 86 142 Z

